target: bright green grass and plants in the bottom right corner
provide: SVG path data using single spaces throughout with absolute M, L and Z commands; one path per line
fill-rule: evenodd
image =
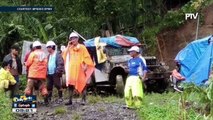
M 183 93 L 149 94 L 138 110 L 142 120 L 212 120 L 213 80 L 209 86 L 186 85 Z

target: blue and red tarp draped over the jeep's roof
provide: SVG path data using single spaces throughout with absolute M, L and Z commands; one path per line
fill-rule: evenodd
M 106 45 L 114 47 L 129 47 L 134 45 L 141 45 L 139 40 L 135 37 L 116 35 L 111 37 L 102 37 L 99 40 L 100 43 L 106 43 Z M 95 47 L 95 38 L 88 39 L 84 42 L 86 47 Z

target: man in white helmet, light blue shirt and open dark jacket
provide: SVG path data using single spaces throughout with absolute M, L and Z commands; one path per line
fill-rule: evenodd
M 48 99 L 51 101 L 53 85 L 58 90 L 58 103 L 63 102 L 62 99 L 62 85 L 60 77 L 64 72 L 64 60 L 62 56 L 56 51 L 56 44 L 53 41 L 48 41 L 46 44 L 48 55 L 48 67 L 47 67 L 47 90 L 48 90 Z

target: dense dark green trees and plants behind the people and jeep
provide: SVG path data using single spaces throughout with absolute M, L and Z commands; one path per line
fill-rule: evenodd
M 175 2 L 176 1 L 176 2 Z M 40 39 L 66 43 L 72 30 L 85 38 L 113 34 L 136 36 L 155 53 L 156 35 L 183 24 L 184 13 L 211 0 L 1 0 L 1 6 L 53 6 L 54 12 L 1 12 L 0 60 L 14 43 Z M 10 41 L 10 42 L 8 42 Z

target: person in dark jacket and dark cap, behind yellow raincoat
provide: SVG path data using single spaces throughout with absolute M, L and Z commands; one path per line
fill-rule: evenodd
M 15 94 L 17 94 L 16 91 L 19 89 L 19 75 L 22 74 L 22 63 L 21 59 L 18 56 L 19 52 L 19 47 L 18 45 L 13 45 L 11 47 L 11 52 L 10 54 L 6 55 L 3 59 L 3 62 L 9 63 L 10 65 L 10 73 L 13 75 L 15 78 L 17 84 L 11 88 L 11 97 L 13 97 Z

